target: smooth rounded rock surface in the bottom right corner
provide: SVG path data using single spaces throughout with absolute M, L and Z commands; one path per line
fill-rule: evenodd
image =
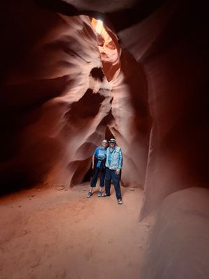
M 209 190 L 169 195 L 156 213 L 140 278 L 209 278 Z

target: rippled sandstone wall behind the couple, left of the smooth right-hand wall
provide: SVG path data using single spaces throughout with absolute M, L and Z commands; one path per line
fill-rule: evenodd
M 73 16 L 73 9 L 68 17 L 33 1 L 4 8 L 1 192 L 40 182 L 68 189 L 89 179 L 93 150 L 104 137 L 122 146 L 123 185 L 143 188 L 149 137 L 144 77 L 137 80 L 137 66 L 129 68 L 131 78 L 123 73 L 116 35 L 106 27 L 104 50 L 90 18 Z M 141 93 L 130 94 L 134 82 Z M 146 111 L 143 119 L 137 110 Z

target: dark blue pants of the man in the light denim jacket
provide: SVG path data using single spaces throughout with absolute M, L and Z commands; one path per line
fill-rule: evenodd
M 105 193 L 107 194 L 107 196 L 110 195 L 110 187 L 112 180 L 112 183 L 114 184 L 114 188 L 116 191 L 116 198 L 121 199 L 120 177 L 120 174 L 116 174 L 115 169 L 109 169 L 107 167 L 105 175 Z

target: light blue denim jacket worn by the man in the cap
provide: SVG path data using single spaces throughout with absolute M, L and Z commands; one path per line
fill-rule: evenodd
M 122 169 L 123 165 L 123 154 L 121 151 L 121 147 L 116 146 L 112 155 L 111 155 L 111 164 L 109 165 L 109 147 L 107 148 L 107 159 L 106 159 L 106 167 L 109 169 Z

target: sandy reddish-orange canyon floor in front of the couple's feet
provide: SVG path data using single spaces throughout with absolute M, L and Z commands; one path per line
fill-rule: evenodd
M 122 205 L 113 187 L 86 193 L 88 183 L 1 197 L 0 278 L 139 279 L 153 227 L 152 216 L 139 223 L 142 190 L 122 187 Z

